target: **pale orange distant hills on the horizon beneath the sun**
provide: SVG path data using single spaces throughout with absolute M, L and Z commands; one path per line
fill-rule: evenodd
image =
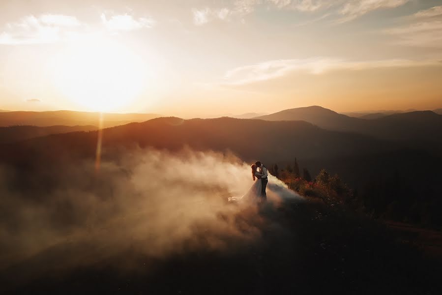
M 104 127 L 127 124 L 130 122 L 142 122 L 151 118 L 157 118 L 155 114 L 104 114 Z M 4 112 L 0 113 L 0 126 L 32 125 L 32 126 L 98 126 L 99 113 L 75 112 L 75 111 L 46 111 L 46 112 Z

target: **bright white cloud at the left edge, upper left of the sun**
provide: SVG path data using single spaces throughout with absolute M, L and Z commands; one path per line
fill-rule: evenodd
M 0 33 L 0 44 L 55 43 L 76 37 L 82 24 L 73 16 L 44 14 L 29 15 L 16 23 L 8 23 Z

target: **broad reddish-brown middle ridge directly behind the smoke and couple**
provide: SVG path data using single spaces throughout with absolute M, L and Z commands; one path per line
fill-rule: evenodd
M 404 115 L 404 119 L 413 120 L 409 118 L 410 114 Z M 390 119 L 396 123 L 395 118 Z M 385 120 L 388 123 L 389 119 Z M 391 126 L 394 128 L 395 124 Z M 417 130 L 410 132 L 415 134 Z M 96 143 L 96 131 L 34 138 L 0 146 L 0 161 L 33 166 L 35 169 L 39 169 L 42 163 L 55 165 L 61 161 L 61 165 L 69 158 L 95 157 Z M 395 163 L 404 161 L 404 157 L 410 160 L 417 157 L 414 161 L 417 165 L 413 168 L 415 170 L 420 166 L 422 170 L 434 171 L 438 169 L 437 163 L 440 163 L 440 158 L 425 152 L 416 153 L 403 143 L 361 134 L 329 131 L 305 121 L 155 118 L 104 129 L 102 143 L 103 150 L 106 151 L 104 156 L 111 158 L 118 154 L 120 148 L 178 150 L 185 146 L 195 150 L 230 150 L 245 161 L 260 159 L 265 163 L 287 163 L 297 157 L 304 163 L 311 163 L 309 165 L 315 169 L 313 174 L 327 163 L 326 168 L 332 172 L 339 171 L 344 179 L 349 179 L 354 184 L 360 184 L 360 179 L 371 175 L 373 171 L 367 170 L 367 165 L 384 166 L 383 172 L 388 174 L 397 168 Z M 397 150 L 403 151 L 395 154 Z M 364 158 L 370 158 L 370 162 L 360 165 Z M 339 168 L 343 163 L 347 163 L 346 169 Z M 436 166 L 433 167 L 434 165 Z

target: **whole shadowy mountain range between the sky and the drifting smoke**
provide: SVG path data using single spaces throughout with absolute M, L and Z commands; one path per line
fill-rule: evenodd
M 173 153 L 187 147 L 234 154 L 248 163 L 261 160 L 270 169 L 277 164 L 283 170 L 296 158 L 300 171 L 308 169 L 313 177 L 324 168 L 331 175 L 339 174 L 365 210 L 373 210 L 378 217 L 397 214 L 398 220 L 421 222 L 427 218 L 423 216 L 431 216 L 425 223 L 439 226 L 441 118 L 432 111 L 351 118 L 321 107 L 259 119 L 153 118 L 102 129 L 101 159 L 107 165 L 140 148 Z M 14 134 L 20 128 L 29 129 L 13 126 L 3 131 Z M 41 128 L 30 133 L 37 135 Z M 95 162 L 99 134 L 75 131 L 3 141 L 0 167 L 17 176 L 17 183 L 8 185 L 26 196 L 43 198 L 48 189 L 57 186 L 56 176 L 66 166 Z M 235 176 L 226 171 L 226 177 Z M 432 213 L 425 213 L 429 211 Z

